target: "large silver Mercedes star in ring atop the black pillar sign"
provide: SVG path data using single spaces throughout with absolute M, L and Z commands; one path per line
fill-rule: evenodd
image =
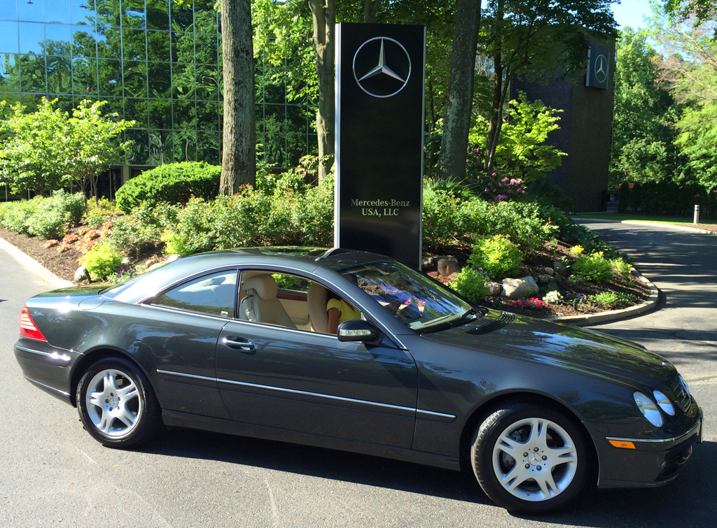
M 379 62 L 376 64 L 375 41 L 381 42 L 379 49 Z M 368 44 L 368 45 L 367 45 Z M 389 47 L 389 59 L 391 67 L 386 61 L 386 48 Z M 361 50 L 364 50 L 362 53 Z M 369 57 L 369 54 L 371 56 Z M 368 64 L 368 66 L 367 66 Z M 371 67 L 371 64 L 376 66 Z M 359 72 L 356 70 L 359 69 Z M 368 71 L 366 71 L 368 69 Z M 353 78 L 361 90 L 364 90 L 372 97 L 391 97 L 404 89 L 409 77 L 411 77 L 411 57 L 406 48 L 397 40 L 389 37 L 374 37 L 356 49 L 353 54 Z

